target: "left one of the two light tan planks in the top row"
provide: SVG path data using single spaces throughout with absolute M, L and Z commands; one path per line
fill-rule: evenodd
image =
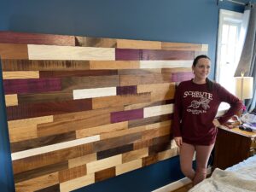
M 117 48 L 122 49 L 161 49 L 160 41 L 117 39 Z

